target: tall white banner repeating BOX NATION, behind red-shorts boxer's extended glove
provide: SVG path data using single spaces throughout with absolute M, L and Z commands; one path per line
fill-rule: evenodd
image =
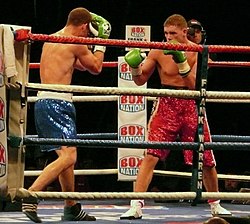
M 137 87 L 124 57 L 118 57 L 118 87 Z M 147 104 L 144 96 L 121 95 L 118 100 L 118 140 L 140 142 L 147 138 Z M 145 149 L 118 148 L 118 180 L 134 181 Z

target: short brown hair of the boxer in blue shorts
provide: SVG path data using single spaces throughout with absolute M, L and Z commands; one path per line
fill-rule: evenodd
M 69 13 L 66 25 L 80 26 L 84 23 L 90 23 L 91 20 L 90 12 L 85 8 L 79 7 Z

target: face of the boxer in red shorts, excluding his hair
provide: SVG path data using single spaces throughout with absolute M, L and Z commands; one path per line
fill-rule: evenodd
M 184 43 L 186 40 L 187 29 L 173 25 L 165 26 L 164 35 L 167 41 L 177 40 L 180 43 Z

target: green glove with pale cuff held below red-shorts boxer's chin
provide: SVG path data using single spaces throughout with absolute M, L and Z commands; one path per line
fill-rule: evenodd
M 171 40 L 169 43 L 178 44 L 176 40 Z M 176 50 L 163 50 L 164 54 L 172 55 L 174 62 L 177 64 L 179 69 L 179 74 L 184 78 L 187 77 L 191 68 L 187 62 L 185 52 Z

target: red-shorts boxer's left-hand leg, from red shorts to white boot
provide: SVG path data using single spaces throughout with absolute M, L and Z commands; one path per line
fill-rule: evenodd
M 172 102 L 172 100 L 171 100 Z M 161 99 L 154 105 L 154 111 L 148 125 L 149 141 L 171 142 L 176 138 L 178 124 L 174 120 L 175 110 L 169 109 L 171 102 L 167 99 Z M 135 183 L 135 192 L 146 192 L 153 177 L 154 168 L 159 159 L 164 160 L 169 154 L 169 150 L 148 149 L 143 158 Z M 130 209 L 121 215 L 120 219 L 141 219 L 144 200 L 131 200 Z

